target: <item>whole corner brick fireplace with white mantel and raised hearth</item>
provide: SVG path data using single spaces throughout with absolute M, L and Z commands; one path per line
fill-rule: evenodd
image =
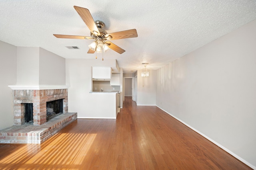
M 77 119 L 77 113 L 68 113 L 66 85 L 13 85 L 14 125 L 0 130 L 0 143 L 41 144 Z M 58 101 L 62 113 L 48 116 L 52 101 Z M 59 103 L 62 101 L 62 103 Z M 49 104 L 50 103 L 50 104 Z M 27 107 L 33 115 L 27 123 Z M 32 110 L 32 111 L 31 111 Z M 54 111 L 55 112 L 55 111 Z M 60 111 L 61 112 L 61 111 Z M 27 117 L 26 117 L 27 119 Z

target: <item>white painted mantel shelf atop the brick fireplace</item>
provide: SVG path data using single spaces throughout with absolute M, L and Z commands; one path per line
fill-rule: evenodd
M 66 85 L 10 85 L 12 90 L 52 90 L 52 89 L 68 89 Z

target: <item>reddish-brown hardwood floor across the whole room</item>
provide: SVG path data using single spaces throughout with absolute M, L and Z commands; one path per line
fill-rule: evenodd
M 0 145 L 1 170 L 251 169 L 154 106 L 78 119 L 41 145 Z

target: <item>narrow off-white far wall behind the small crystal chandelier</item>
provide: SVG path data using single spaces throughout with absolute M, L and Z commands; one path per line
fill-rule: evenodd
M 156 105 L 156 70 L 147 70 L 148 77 L 142 77 L 138 70 L 138 87 L 137 87 L 137 105 L 138 106 L 155 106 Z

